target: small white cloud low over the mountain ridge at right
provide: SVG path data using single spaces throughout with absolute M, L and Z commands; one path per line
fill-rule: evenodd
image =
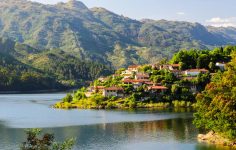
M 206 20 L 207 25 L 214 27 L 236 27 L 236 17 L 220 18 L 215 17 Z

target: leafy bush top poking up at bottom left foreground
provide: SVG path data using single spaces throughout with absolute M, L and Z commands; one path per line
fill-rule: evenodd
M 40 138 L 40 129 L 27 130 L 26 134 L 27 140 L 22 143 L 21 150 L 71 150 L 75 144 L 75 139 L 68 139 L 63 143 L 55 142 L 54 135 L 49 133 Z

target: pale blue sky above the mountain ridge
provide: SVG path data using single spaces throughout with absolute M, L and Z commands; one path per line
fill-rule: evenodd
M 68 0 L 33 0 L 45 4 Z M 166 19 L 236 27 L 236 0 L 80 0 L 133 19 Z

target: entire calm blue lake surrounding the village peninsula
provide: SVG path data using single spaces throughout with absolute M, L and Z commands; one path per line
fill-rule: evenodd
M 57 110 L 65 96 L 0 95 L 0 149 L 15 150 L 27 128 L 42 128 L 56 139 L 76 138 L 75 150 L 221 150 L 199 143 L 190 110 Z

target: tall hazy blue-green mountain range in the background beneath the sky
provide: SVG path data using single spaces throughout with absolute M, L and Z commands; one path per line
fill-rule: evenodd
M 115 68 L 153 63 L 180 49 L 236 44 L 235 28 L 199 23 L 134 20 L 83 3 L 43 5 L 1 0 L 0 36 L 40 51 L 57 49 L 86 61 Z

